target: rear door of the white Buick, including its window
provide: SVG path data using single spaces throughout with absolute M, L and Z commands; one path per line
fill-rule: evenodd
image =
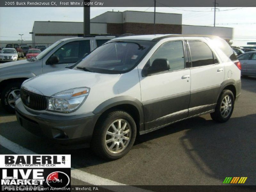
M 192 64 L 188 108 L 188 116 L 191 117 L 214 109 L 225 68 L 204 39 L 187 40 Z

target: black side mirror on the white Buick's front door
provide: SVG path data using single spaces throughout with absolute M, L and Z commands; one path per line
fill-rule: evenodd
M 144 76 L 148 76 L 154 73 L 159 73 L 162 71 L 168 71 L 170 69 L 169 61 L 167 59 L 155 59 L 152 65 L 147 69 Z

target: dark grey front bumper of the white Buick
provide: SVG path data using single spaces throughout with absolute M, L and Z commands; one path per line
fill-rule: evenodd
M 83 144 L 84 147 L 89 147 L 100 116 L 94 113 L 73 116 L 38 113 L 24 107 L 21 100 L 16 102 L 15 109 L 19 124 L 29 132 L 59 144 Z

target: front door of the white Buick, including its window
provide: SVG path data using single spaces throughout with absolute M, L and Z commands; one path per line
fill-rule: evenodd
M 140 77 L 145 130 L 161 127 L 188 116 L 190 69 L 185 68 L 184 42 L 166 42 L 159 46 L 146 65 L 155 59 L 167 59 L 169 71 Z

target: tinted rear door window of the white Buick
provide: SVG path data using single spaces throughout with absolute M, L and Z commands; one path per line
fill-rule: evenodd
M 200 67 L 218 63 L 210 47 L 202 41 L 188 41 L 192 67 Z

